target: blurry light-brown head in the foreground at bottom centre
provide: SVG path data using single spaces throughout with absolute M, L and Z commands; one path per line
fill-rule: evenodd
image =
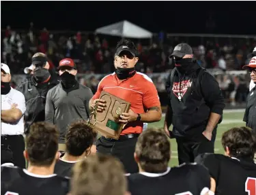
M 72 169 L 72 195 L 128 194 L 122 164 L 110 155 L 90 155 Z

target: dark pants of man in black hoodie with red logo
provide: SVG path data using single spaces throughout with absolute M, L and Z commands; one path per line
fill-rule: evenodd
M 201 153 L 214 153 L 214 141 L 216 128 L 212 132 L 212 140 L 205 138 L 203 134 L 197 138 L 177 137 L 177 155 L 179 164 L 194 162 L 195 157 Z

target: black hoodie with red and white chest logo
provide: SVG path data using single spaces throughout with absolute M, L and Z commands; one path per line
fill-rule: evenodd
M 186 74 L 177 70 L 172 86 L 167 79 L 166 89 L 174 136 L 198 136 L 205 130 L 211 112 L 223 114 L 225 103 L 218 82 L 196 63 Z

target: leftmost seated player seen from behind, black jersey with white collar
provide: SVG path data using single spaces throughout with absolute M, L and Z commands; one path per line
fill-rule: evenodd
M 30 127 L 24 156 L 28 168 L 1 167 L 1 194 L 66 195 L 69 179 L 53 174 L 58 158 L 57 127 L 38 122 Z

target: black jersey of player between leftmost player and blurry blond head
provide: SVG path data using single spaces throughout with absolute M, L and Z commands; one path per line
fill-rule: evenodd
M 59 159 L 55 164 L 54 172 L 63 177 L 71 177 L 74 164 L 75 162 L 67 162 Z

